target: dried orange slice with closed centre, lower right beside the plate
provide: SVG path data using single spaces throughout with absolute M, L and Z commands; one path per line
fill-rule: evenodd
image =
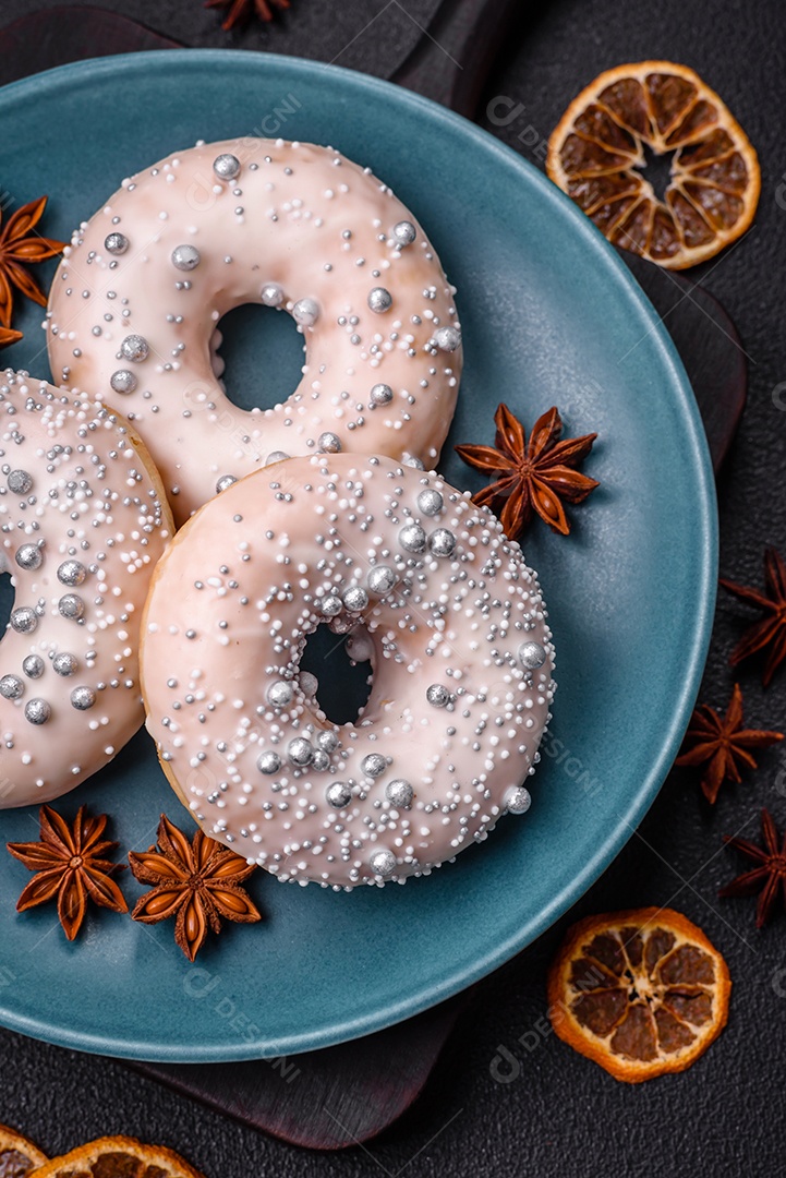
M 587 916 L 548 974 L 560 1039 L 628 1084 L 681 1072 L 726 1026 L 731 979 L 700 928 L 672 908 Z

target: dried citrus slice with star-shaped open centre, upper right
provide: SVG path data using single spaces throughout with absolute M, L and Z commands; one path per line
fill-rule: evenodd
M 662 199 L 640 171 L 645 148 L 673 152 Z M 740 125 L 693 70 L 673 61 L 595 78 L 552 132 L 546 171 L 610 241 L 670 270 L 737 240 L 761 186 Z

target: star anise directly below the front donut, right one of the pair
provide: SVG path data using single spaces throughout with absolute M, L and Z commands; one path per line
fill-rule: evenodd
M 251 898 L 240 887 L 255 867 L 234 851 L 196 830 L 192 842 L 161 814 L 158 848 L 129 852 L 131 869 L 142 884 L 154 884 L 136 901 L 134 920 L 158 925 L 176 915 L 174 939 L 193 961 L 207 938 L 208 927 L 221 931 L 221 918 L 241 924 L 261 920 Z

